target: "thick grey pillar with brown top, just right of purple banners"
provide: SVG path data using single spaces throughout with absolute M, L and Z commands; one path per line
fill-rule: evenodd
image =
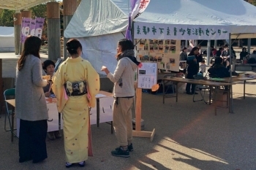
M 47 3 L 48 19 L 48 58 L 57 61 L 61 58 L 61 23 L 58 2 Z

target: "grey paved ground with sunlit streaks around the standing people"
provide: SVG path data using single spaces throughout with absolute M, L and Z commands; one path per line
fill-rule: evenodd
M 1 55 L 1 54 L 0 54 Z M 4 60 L 3 75 L 11 75 L 15 61 Z M 14 74 L 15 75 L 15 74 Z M 255 82 L 256 83 L 256 82 Z M 143 93 L 142 117 L 145 131 L 156 129 L 154 141 L 134 138 L 135 150 L 130 158 L 116 158 L 110 151 L 117 146 L 110 125 L 92 125 L 94 157 L 86 167 L 72 169 L 256 169 L 255 83 L 246 85 L 246 99 L 242 99 L 243 85 L 233 85 L 234 114 L 203 102 L 193 102 L 192 96 L 179 94 L 167 98 Z M 42 163 L 18 163 L 18 139 L 10 142 L 10 132 L 4 131 L 4 115 L 0 118 L 0 170 L 66 169 L 63 139 L 47 139 L 48 159 Z

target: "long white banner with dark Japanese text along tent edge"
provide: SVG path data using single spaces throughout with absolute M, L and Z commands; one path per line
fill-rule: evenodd
M 228 26 L 134 23 L 135 39 L 229 39 Z

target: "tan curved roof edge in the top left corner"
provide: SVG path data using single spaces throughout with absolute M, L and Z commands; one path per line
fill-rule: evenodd
M 0 0 L 1 9 L 20 10 L 46 3 L 49 0 Z

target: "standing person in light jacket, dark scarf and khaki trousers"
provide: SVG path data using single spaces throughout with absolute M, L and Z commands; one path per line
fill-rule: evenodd
M 118 146 L 111 152 L 118 157 L 129 157 L 132 147 L 132 104 L 135 96 L 135 71 L 140 66 L 135 58 L 134 45 L 129 39 L 121 39 L 117 45 L 118 61 L 114 74 L 102 66 L 102 71 L 114 82 L 113 126 Z

